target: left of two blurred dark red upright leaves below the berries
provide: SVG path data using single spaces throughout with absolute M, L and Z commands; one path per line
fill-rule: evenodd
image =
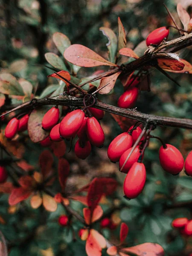
M 53 164 L 53 157 L 49 150 L 44 150 L 39 156 L 39 164 L 41 167 L 41 173 L 43 175 L 44 180 L 49 177 L 51 172 L 51 167 Z

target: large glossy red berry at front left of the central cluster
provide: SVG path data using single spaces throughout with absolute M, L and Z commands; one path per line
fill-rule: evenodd
M 81 109 L 76 109 L 67 114 L 61 121 L 59 133 L 63 138 L 74 137 L 79 131 L 84 120 L 84 112 Z

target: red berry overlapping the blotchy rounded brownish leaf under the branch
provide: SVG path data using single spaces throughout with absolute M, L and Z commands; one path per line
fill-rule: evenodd
M 50 130 L 52 129 L 59 120 L 59 109 L 56 107 L 53 107 L 47 111 L 47 113 L 44 115 L 42 120 L 42 127 L 44 130 Z

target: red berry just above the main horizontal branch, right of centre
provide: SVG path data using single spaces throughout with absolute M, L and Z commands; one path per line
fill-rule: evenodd
M 133 108 L 137 102 L 139 90 L 137 87 L 130 88 L 125 91 L 117 102 L 119 108 Z

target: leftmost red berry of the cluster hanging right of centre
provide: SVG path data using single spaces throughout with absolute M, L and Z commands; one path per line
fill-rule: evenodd
M 133 139 L 130 134 L 124 132 L 119 134 L 114 140 L 111 141 L 108 147 L 108 157 L 112 162 L 119 161 L 122 154 L 131 148 Z

